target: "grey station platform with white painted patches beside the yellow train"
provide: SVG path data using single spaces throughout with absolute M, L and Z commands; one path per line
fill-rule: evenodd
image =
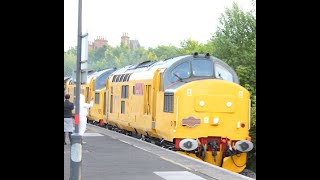
M 67 140 L 69 140 L 67 138 Z M 82 180 L 252 180 L 209 163 L 87 124 Z M 64 180 L 70 178 L 70 142 L 64 145 Z

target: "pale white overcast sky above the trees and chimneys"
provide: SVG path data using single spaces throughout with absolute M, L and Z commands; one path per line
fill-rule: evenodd
M 119 46 L 121 36 L 155 48 L 180 47 L 188 38 L 206 43 L 225 8 L 236 2 L 245 11 L 251 0 L 82 0 L 82 32 L 89 41 L 97 36 Z M 79 0 L 64 0 L 64 50 L 77 45 Z

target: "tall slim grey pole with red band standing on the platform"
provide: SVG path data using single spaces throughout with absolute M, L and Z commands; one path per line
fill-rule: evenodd
M 77 45 L 77 70 L 76 70 L 76 100 L 75 100 L 75 132 L 71 135 L 70 150 L 70 180 L 82 179 L 82 136 L 79 134 L 79 107 L 80 107 L 80 71 L 81 71 L 81 41 L 82 41 L 82 0 L 79 0 L 78 10 L 78 45 Z

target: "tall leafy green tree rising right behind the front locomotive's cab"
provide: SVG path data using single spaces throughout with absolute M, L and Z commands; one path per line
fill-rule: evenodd
M 255 1 L 253 1 L 253 5 Z M 233 3 L 220 18 L 220 26 L 208 45 L 214 56 L 233 67 L 240 84 L 251 93 L 250 136 L 256 146 L 256 16 L 255 9 L 245 12 Z M 255 171 L 255 153 L 249 155 L 248 167 Z

